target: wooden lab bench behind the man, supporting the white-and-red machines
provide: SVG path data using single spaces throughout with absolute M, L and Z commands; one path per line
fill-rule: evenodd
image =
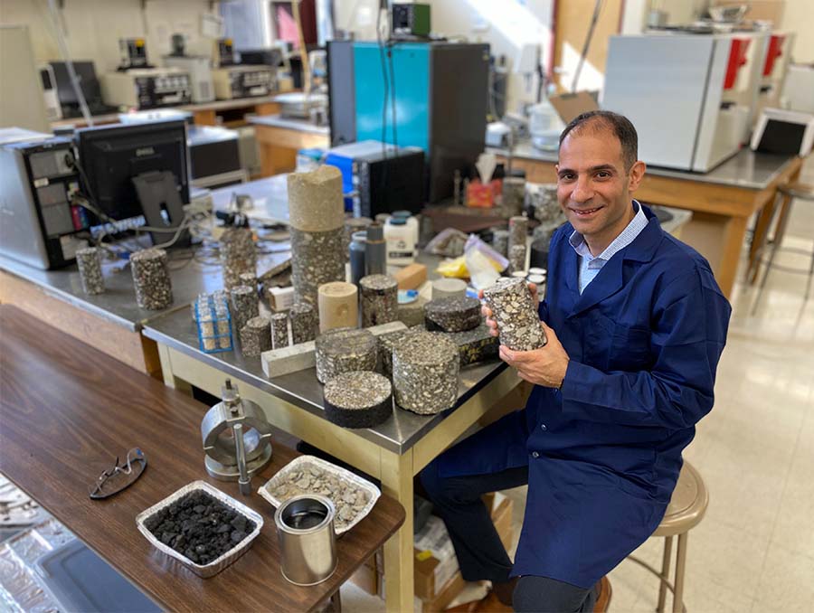
M 556 152 L 537 152 L 524 143 L 516 147 L 512 167 L 525 170 L 529 181 L 555 183 L 556 159 Z M 709 261 L 724 296 L 731 297 L 747 222 L 760 212 L 750 250 L 751 269 L 765 240 L 777 189 L 797 179 L 802 162 L 796 156 L 744 149 L 706 174 L 648 168 L 635 196 L 643 203 L 693 212 L 681 239 Z

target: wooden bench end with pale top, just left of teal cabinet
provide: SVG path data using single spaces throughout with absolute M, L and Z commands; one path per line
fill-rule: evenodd
M 297 150 L 330 146 L 330 130 L 299 119 L 263 115 L 250 118 L 260 147 L 262 176 L 290 173 L 297 166 Z

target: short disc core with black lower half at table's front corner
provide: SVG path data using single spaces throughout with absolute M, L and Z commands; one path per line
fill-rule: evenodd
M 328 421 L 344 428 L 373 428 L 393 415 L 393 386 L 379 373 L 336 375 L 323 394 Z

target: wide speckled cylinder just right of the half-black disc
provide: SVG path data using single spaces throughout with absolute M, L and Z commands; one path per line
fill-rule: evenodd
M 458 347 L 446 336 L 420 332 L 393 348 L 393 393 L 403 409 L 434 415 L 458 401 Z

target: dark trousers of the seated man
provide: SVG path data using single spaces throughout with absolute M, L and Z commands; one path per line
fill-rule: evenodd
M 447 525 L 465 580 L 508 580 L 512 561 L 480 496 L 526 484 L 526 467 L 487 475 L 442 477 L 432 462 L 421 471 L 421 485 L 435 505 L 435 512 Z M 547 577 L 525 575 L 517 581 L 513 607 L 516 611 L 552 613 L 591 611 L 597 591 Z

